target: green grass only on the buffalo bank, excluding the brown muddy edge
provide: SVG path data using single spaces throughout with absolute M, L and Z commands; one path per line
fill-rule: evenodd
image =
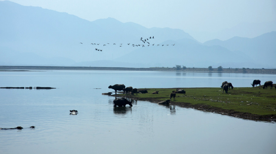
M 218 107 L 238 112 L 246 112 L 257 115 L 276 115 L 276 90 L 263 89 L 258 87 L 234 88 L 228 90 L 228 93 L 222 93 L 221 88 L 180 88 L 186 91 L 186 94 L 176 94 L 176 101 L 187 102 L 193 105 L 205 104 L 211 107 Z M 160 101 L 170 99 L 170 93 L 176 90 L 170 89 L 147 89 L 148 93 L 134 95 L 139 98 L 153 98 Z M 151 94 L 159 91 L 159 94 Z

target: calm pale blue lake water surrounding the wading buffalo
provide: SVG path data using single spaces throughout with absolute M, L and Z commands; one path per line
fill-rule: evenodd
M 276 83 L 276 75 L 64 71 L 0 72 L 0 153 L 276 153 L 276 123 L 212 112 L 171 109 L 134 100 L 113 108 L 109 85 L 133 88 L 251 87 L 254 79 Z M 234 89 L 233 89 L 234 90 Z M 69 110 L 78 115 L 69 115 Z M 35 129 L 28 128 L 36 126 Z

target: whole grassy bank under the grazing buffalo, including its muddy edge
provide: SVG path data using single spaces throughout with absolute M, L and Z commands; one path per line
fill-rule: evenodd
M 276 90 L 263 89 L 262 86 L 234 88 L 222 93 L 221 88 L 181 88 L 186 94 L 176 94 L 171 104 L 208 110 L 248 119 L 276 120 Z M 122 95 L 138 100 L 160 102 L 170 99 L 173 89 L 147 89 L 148 93 L 138 95 Z M 158 94 L 151 94 L 159 91 Z

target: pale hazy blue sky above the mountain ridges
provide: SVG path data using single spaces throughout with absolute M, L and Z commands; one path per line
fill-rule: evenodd
M 275 0 L 10 0 L 88 21 L 115 18 L 146 28 L 177 28 L 199 42 L 276 31 Z M 267 24 L 267 25 L 266 25 Z M 268 26 L 269 25 L 269 26 Z

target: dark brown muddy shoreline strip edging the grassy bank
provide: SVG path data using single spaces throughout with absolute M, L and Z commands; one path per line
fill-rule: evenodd
M 163 97 L 160 98 L 140 98 L 136 97 L 135 95 L 111 95 L 114 97 L 126 97 L 130 99 L 135 99 L 139 101 L 148 101 L 152 103 L 158 103 L 161 102 L 159 99 L 163 99 Z M 170 101 L 170 104 L 177 105 L 179 107 L 184 107 L 184 108 L 193 108 L 201 111 L 209 111 L 209 112 L 214 112 L 214 113 L 219 113 L 223 115 L 229 115 L 233 116 L 236 118 L 241 118 L 241 119 L 247 119 L 247 120 L 254 120 L 254 121 L 266 121 L 266 122 L 276 122 L 276 115 L 257 115 L 257 114 L 252 114 L 252 113 L 246 113 L 246 112 L 238 112 L 234 110 L 227 110 L 227 109 L 221 109 L 218 107 L 210 106 L 210 105 L 205 105 L 205 104 L 195 104 L 192 105 L 191 103 L 186 103 L 186 102 L 177 102 L 177 101 Z

